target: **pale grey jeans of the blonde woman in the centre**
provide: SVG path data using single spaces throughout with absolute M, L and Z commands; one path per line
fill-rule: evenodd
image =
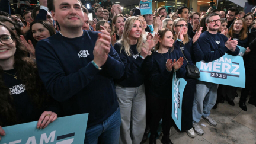
M 135 88 L 116 85 L 121 113 L 119 144 L 140 143 L 146 128 L 146 96 L 144 84 Z

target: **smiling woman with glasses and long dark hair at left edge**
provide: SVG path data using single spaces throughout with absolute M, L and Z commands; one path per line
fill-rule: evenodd
M 36 120 L 37 129 L 45 128 L 57 119 L 52 103 L 20 38 L 0 22 L 0 131 Z

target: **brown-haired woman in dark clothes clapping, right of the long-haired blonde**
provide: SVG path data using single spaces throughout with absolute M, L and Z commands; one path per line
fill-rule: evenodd
M 162 28 L 158 31 L 159 39 L 153 55 L 153 68 L 149 73 L 150 88 L 147 98 L 151 113 L 149 143 L 156 143 L 157 129 L 162 119 L 164 136 L 162 143 L 172 143 L 169 139 L 169 131 L 174 126 L 171 117 L 172 111 L 172 75 L 176 72 L 178 78 L 185 76 L 183 55 L 180 50 L 174 49 L 174 36 L 172 31 Z

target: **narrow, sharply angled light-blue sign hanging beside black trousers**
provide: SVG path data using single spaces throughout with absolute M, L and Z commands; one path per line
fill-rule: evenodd
M 187 85 L 187 81 L 183 78 L 177 78 L 176 72 L 172 78 L 172 119 L 176 126 L 181 130 L 181 107 L 183 99 L 183 91 Z

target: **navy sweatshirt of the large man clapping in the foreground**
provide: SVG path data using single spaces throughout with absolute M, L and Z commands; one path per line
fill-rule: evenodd
M 83 30 L 73 39 L 57 33 L 36 45 L 37 67 L 47 91 L 61 102 L 65 116 L 89 113 L 87 127 L 103 123 L 117 110 L 113 78 L 124 72 L 112 46 L 101 71 L 91 63 L 97 33 Z

